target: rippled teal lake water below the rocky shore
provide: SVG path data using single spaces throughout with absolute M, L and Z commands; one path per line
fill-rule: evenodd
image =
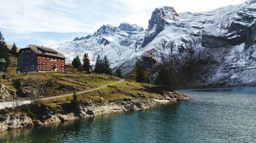
M 0 142 L 256 142 L 256 88 L 180 91 L 194 100 L 0 132 Z

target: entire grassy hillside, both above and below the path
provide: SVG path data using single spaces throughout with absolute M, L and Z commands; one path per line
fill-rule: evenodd
M 100 85 L 120 80 L 116 76 L 81 73 L 70 65 L 66 66 L 66 70 L 71 72 L 71 74 L 57 72 L 17 74 L 16 58 L 10 57 L 10 59 L 11 65 L 8 67 L 8 79 L 0 79 L 0 84 L 6 85 L 8 89 L 15 90 L 17 97 L 29 97 L 31 91 L 35 90 L 39 90 L 42 97 L 57 96 L 97 88 Z M 151 87 L 154 87 L 154 85 L 124 81 L 102 90 L 81 94 L 79 98 L 82 100 L 93 99 L 94 101 L 98 101 L 100 97 L 103 97 L 106 101 L 140 97 L 151 98 L 154 94 L 146 90 Z M 47 102 L 49 104 L 62 104 L 70 102 L 71 99 L 72 97 L 67 97 Z

